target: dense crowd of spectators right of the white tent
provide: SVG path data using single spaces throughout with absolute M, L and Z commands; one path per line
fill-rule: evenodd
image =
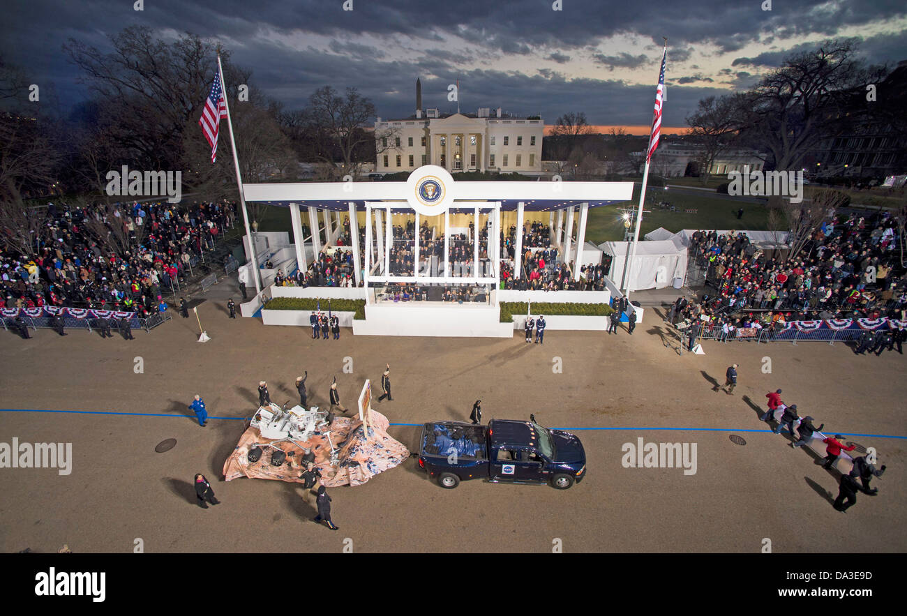
M 742 233 L 697 231 L 689 250 L 707 270 L 707 293 L 674 317 L 706 315 L 731 331 L 793 320 L 904 318 L 907 278 L 896 248 L 889 212 L 872 222 L 859 214 L 832 217 L 795 258 L 766 254 Z

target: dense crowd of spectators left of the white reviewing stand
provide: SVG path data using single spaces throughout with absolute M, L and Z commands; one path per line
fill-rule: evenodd
M 33 254 L 0 254 L 0 308 L 43 306 L 134 311 L 161 306 L 161 289 L 236 217 L 236 203 L 49 203 Z M 9 232 L 9 231 L 7 231 Z

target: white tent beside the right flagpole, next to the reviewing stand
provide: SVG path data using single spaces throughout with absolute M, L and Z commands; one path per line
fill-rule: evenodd
M 631 242 L 606 241 L 599 248 L 611 255 L 608 278 L 620 285 L 624 278 L 624 264 L 632 250 Z M 670 287 L 674 279 L 680 279 L 682 284 L 687 278 L 687 248 L 676 239 L 640 241 L 632 271 L 627 276 L 631 291 Z

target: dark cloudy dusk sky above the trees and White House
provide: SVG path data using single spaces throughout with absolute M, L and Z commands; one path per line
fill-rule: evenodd
M 107 36 L 146 24 L 164 37 L 190 31 L 223 42 L 252 81 L 288 107 L 317 87 L 356 86 L 383 117 L 424 106 L 502 106 L 586 112 L 596 124 L 648 125 L 661 37 L 668 37 L 665 125 L 683 126 L 697 101 L 744 89 L 792 50 L 858 36 L 873 63 L 907 59 L 904 0 L 5 0 L 0 53 L 68 106 L 86 91 L 61 49 L 70 37 L 105 48 Z

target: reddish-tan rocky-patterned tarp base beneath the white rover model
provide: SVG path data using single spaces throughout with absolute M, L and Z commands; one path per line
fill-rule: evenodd
M 224 463 L 224 478 L 230 481 L 243 476 L 258 477 L 301 484 L 299 474 L 305 469 L 301 467 L 300 459 L 302 448 L 307 447 L 315 453 L 315 465 L 321 471 L 321 483 L 326 487 L 365 484 L 376 474 L 402 464 L 409 457 L 405 445 L 387 434 L 388 425 L 387 417 L 373 410 L 366 438 L 358 417 L 335 417 L 330 425 L 330 435 L 335 448 L 340 450 L 336 468 L 331 465 L 327 435 L 313 435 L 307 441 L 277 442 L 262 437 L 258 428 L 250 425 Z M 250 464 L 249 449 L 254 444 L 261 445 L 262 454 L 258 462 Z M 287 454 L 284 464 L 271 465 L 273 447 L 279 447 Z

